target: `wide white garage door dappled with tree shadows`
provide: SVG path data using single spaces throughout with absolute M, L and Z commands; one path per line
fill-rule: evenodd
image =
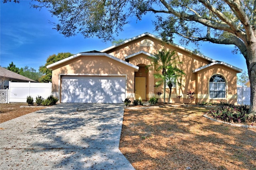
M 62 103 L 122 103 L 125 76 L 62 76 Z

